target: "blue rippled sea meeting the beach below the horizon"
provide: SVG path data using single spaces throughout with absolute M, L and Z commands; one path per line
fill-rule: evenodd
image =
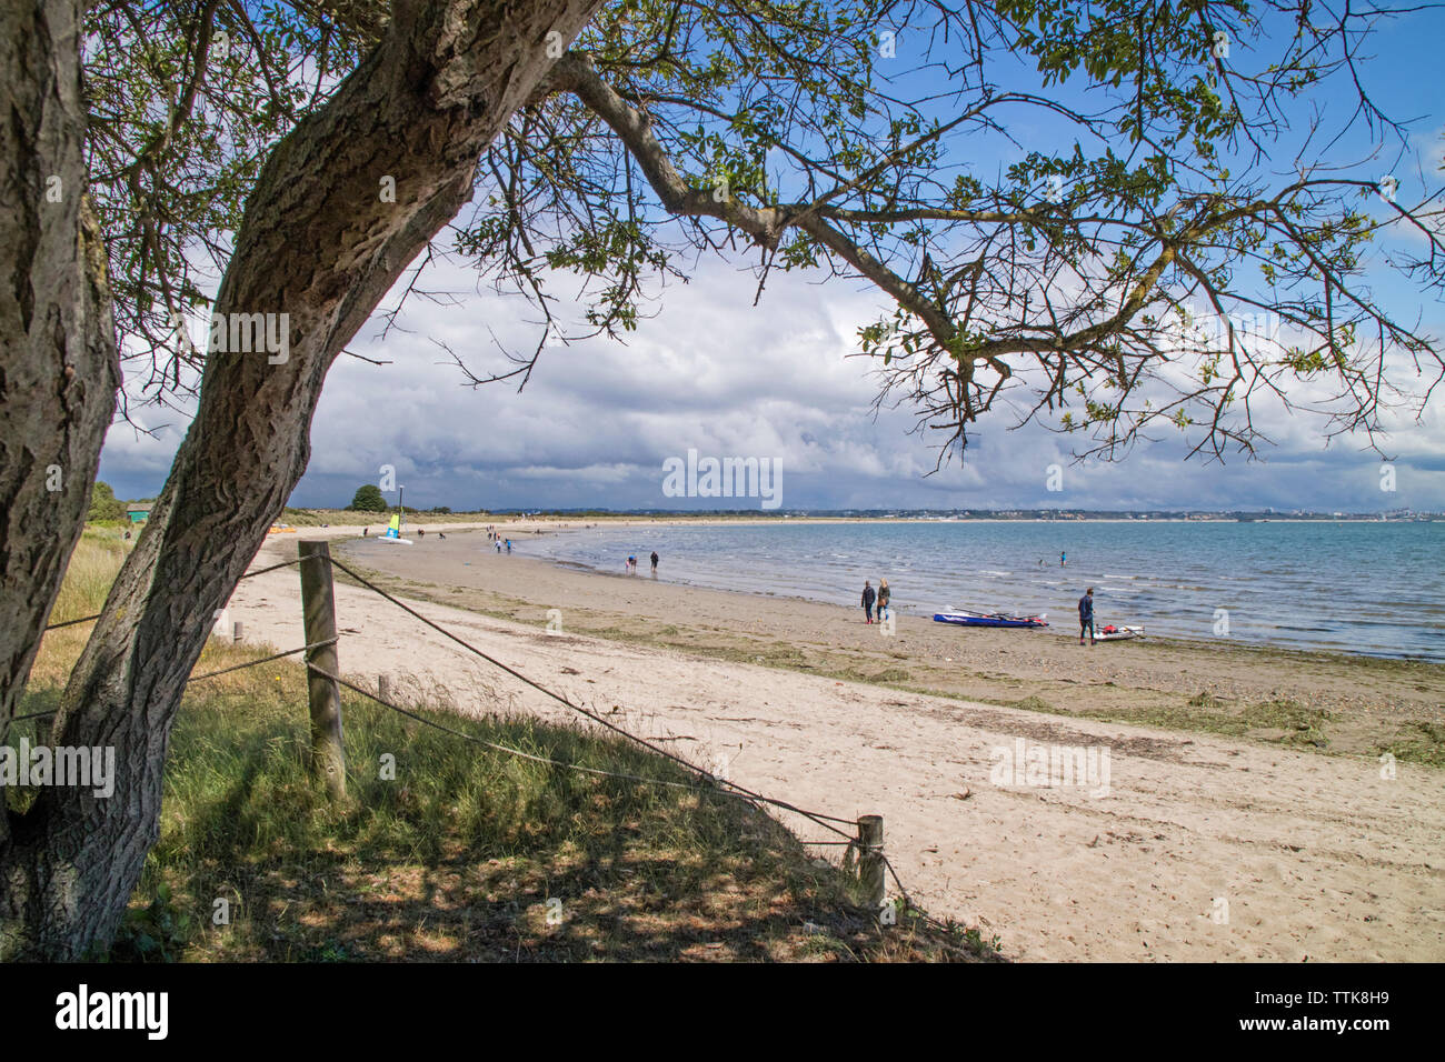
M 894 608 L 1049 613 L 1077 633 L 1094 587 L 1100 624 L 1445 660 L 1445 523 L 1023 523 L 597 527 L 525 553 L 672 582 L 857 605 L 889 581 Z M 1059 566 L 1061 551 L 1068 566 Z M 1224 611 L 1220 611 L 1224 610 Z

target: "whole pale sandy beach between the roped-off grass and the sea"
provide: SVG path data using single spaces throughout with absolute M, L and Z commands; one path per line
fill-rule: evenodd
M 501 526 L 514 540 L 555 529 Z M 1445 725 L 1445 668 L 1162 640 L 1081 649 L 907 616 L 889 637 L 858 610 L 499 556 L 460 530 L 332 549 L 695 763 L 832 815 L 881 813 L 915 899 L 1007 955 L 1445 958 L 1445 772 L 1402 756 L 1387 777 L 1379 759 Z M 296 538 L 272 536 L 257 566 L 295 556 Z M 337 607 L 351 675 L 461 712 L 562 718 L 368 591 L 338 585 Z M 230 611 L 247 640 L 301 644 L 295 569 L 243 581 Z M 1107 750 L 1107 793 L 1000 780 L 1013 750 L 1039 746 Z

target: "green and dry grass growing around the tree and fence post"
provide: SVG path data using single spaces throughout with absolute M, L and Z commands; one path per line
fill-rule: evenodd
M 120 556 L 87 536 L 66 607 L 97 611 Z M 22 714 L 58 702 L 87 630 L 46 636 Z M 212 643 L 197 673 L 264 652 Z M 997 938 L 916 910 L 880 925 L 851 876 L 767 815 L 618 738 L 529 717 L 420 709 L 535 756 L 673 785 L 527 761 L 348 695 L 348 792 L 332 805 L 306 770 L 305 704 L 289 660 L 188 689 L 160 839 L 113 961 L 996 957 Z M 7 741 L 43 733 L 16 724 Z

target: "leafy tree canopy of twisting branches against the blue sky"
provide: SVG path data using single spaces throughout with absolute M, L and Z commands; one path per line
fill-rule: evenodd
M 407 292 L 454 253 L 532 299 L 538 345 L 509 351 L 513 371 L 454 351 L 471 383 L 525 384 L 548 347 L 624 340 L 649 282 L 733 250 L 756 256 L 760 299 L 770 270 L 803 267 L 884 293 L 894 308 L 857 353 L 880 405 L 915 409 L 944 452 L 996 410 L 1110 457 L 1153 428 L 1251 451 L 1261 402 L 1373 441 L 1445 371 L 1410 298 L 1445 276 L 1439 173 L 1374 103 L 1364 59 L 1407 10 L 613 3 L 568 48 L 543 42 L 552 75 Z M 389 17 L 91 12 L 97 199 L 158 399 L 204 358 L 172 314 L 205 305 L 198 270 L 224 263 L 260 160 Z M 579 316 L 549 289 L 562 272 L 587 283 Z

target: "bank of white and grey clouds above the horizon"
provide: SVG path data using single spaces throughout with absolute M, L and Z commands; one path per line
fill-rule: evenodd
M 1419 33 L 1390 32 L 1380 49 L 1387 62 L 1433 62 Z M 1438 140 L 1439 91 L 1415 105 L 1409 78 L 1383 84 L 1386 103 L 1433 118 L 1425 131 Z M 689 283 L 660 290 L 656 315 L 626 344 L 549 348 L 520 393 L 506 383 L 464 386 L 438 342 L 478 374 L 503 370 L 493 335 L 533 348 L 538 312 L 516 296 L 478 292 L 464 263 L 435 267 L 423 286 L 454 299 L 409 299 L 384 338 L 373 318 L 350 350 L 387 364 L 342 355 L 331 370 L 290 504 L 344 506 L 392 467 L 407 507 L 760 507 L 757 497 L 670 497 L 665 462 L 695 451 L 698 459 L 775 462 L 783 509 L 1445 510 L 1438 405 L 1419 423 L 1394 419 L 1383 442 L 1394 458 L 1389 474 L 1364 439 L 1327 445 L 1318 420 L 1277 409 L 1263 418 L 1276 445 L 1253 461 L 1183 461 L 1185 438 L 1160 429 L 1123 461 L 1077 464 L 1075 439 L 1042 425 L 1010 431 L 1003 413 L 971 433 L 964 458 L 935 471 L 935 444 L 912 431 L 907 409 L 871 409 L 871 366 L 850 357 L 857 328 L 877 321 L 886 301 L 861 282 L 775 272 L 754 306 L 750 264 L 701 260 Z M 1436 325 L 1439 311 L 1438 302 L 1422 306 Z M 159 493 L 185 431 L 184 413 L 134 416 L 150 433 L 117 423 L 101 457 L 100 478 L 123 498 Z

